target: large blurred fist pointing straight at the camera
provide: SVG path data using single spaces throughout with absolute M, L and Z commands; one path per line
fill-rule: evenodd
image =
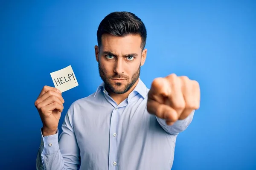
M 164 78 L 156 78 L 148 92 L 148 112 L 165 119 L 167 125 L 173 125 L 178 119 L 185 119 L 199 106 L 199 84 L 186 76 L 170 74 Z

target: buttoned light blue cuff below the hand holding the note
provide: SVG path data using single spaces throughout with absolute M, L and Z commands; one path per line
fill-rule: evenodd
M 59 150 L 58 145 L 58 128 L 57 133 L 54 135 L 43 136 L 41 130 L 41 153 L 44 155 L 49 155 L 55 153 Z

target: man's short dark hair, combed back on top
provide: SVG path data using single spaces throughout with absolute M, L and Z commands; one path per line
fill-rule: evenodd
M 129 34 L 140 35 L 141 48 L 145 48 L 147 31 L 144 23 L 131 12 L 112 12 L 108 14 L 99 24 L 97 40 L 99 47 L 102 45 L 102 35 L 111 34 L 123 37 Z

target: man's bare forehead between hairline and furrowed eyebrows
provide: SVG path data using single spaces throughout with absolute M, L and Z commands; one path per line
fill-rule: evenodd
M 104 34 L 102 36 L 102 51 L 126 54 L 141 51 L 141 37 L 139 35 L 118 37 Z

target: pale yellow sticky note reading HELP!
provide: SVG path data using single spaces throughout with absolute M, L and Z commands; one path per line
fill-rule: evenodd
M 78 86 L 78 82 L 71 65 L 61 70 L 50 73 L 55 88 L 61 92 Z

